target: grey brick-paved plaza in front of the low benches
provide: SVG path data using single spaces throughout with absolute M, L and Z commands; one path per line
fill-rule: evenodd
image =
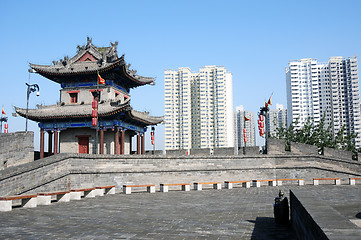
M 290 188 L 320 193 L 349 219 L 361 212 L 361 185 L 117 193 L 1 212 L 0 239 L 295 239 L 273 218 L 274 198 Z

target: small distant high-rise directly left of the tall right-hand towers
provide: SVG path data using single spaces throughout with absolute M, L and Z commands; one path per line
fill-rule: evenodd
M 284 109 L 282 104 L 276 104 L 276 109 L 268 111 L 267 125 L 271 136 L 276 134 L 277 128 L 287 127 L 287 109 Z

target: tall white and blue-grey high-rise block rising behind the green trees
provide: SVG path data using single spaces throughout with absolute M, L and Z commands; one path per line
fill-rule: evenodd
M 325 116 L 336 134 L 357 133 L 361 147 L 361 114 L 357 58 L 331 57 L 327 63 L 316 59 L 290 61 L 286 68 L 288 124 L 298 119 L 302 126 L 311 117 L 314 123 Z

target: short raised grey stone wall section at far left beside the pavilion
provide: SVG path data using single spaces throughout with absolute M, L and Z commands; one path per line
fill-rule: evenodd
M 0 133 L 0 170 L 34 161 L 34 132 Z

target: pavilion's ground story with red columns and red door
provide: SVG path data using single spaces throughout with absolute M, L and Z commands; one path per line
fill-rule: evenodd
M 144 154 L 145 133 L 112 127 L 96 131 L 92 128 L 44 129 L 40 128 L 40 158 L 44 158 L 45 134 L 48 134 L 48 154 Z M 132 151 L 132 139 L 136 137 L 136 151 Z M 97 148 L 96 143 L 98 144 Z

